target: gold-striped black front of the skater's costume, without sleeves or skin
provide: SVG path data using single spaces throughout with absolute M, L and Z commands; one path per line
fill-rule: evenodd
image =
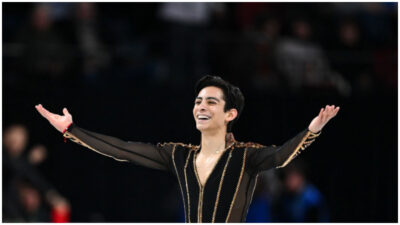
M 198 151 L 195 148 L 177 146 L 173 152 L 175 173 L 184 199 L 186 222 L 226 222 L 232 208 L 240 207 L 235 198 L 245 169 L 246 150 L 234 147 L 227 149 L 204 186 L 201 185 L 196 170 Z

